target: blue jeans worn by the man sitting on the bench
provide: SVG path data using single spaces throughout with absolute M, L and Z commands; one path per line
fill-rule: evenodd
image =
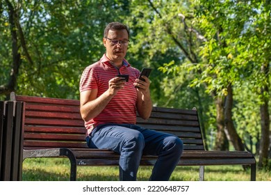
M 86 140 L 90 148 L 120 154 L 120 180 L 126 181 L 136 180 L 142 154 L 158 156 L 149 180 L 169 180 L 183 152 L 178 137 L 138 125 L 98 125 Z

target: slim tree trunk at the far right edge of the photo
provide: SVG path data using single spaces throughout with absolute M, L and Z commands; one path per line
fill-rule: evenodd
M 268 65 L 261 67 L 264 75 L 268 75 Z M 258 167 L 261 169 L 268 166 L 268 149 L 270 145 L 270 115 L 268 112 L 268 98 L 264 94 L 268 94 L 268 84 L 261 88 L 261 95 L 263 96 L 263 104 L 261 104 L 261 142 L 259 150 Z

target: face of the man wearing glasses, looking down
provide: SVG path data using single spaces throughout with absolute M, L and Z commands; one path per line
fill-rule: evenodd
M 122 64 L 128 49 L 128 45 L 125 45 L 124 42 L 128 40 L 129 36 L 125 29 L 120 31 L 109 30 L 107 37 L 103 39 L 104 47 L 106 47 L 106 56 L 110 61 L 113 61 L 115 65 Z

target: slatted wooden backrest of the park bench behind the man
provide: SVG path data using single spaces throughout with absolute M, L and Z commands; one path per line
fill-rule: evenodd
M 79 100 L 16 95 L 26 102 L 24 148 L 88 148 Z M 204 150 L 196 110 L 154 107 L 151 117 L 137 124 L 180 137 L 184 150 Z

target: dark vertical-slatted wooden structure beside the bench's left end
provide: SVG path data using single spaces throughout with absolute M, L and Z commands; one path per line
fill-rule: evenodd
M 23 102 L 0 101 L 0 181 L 22 180 Z

